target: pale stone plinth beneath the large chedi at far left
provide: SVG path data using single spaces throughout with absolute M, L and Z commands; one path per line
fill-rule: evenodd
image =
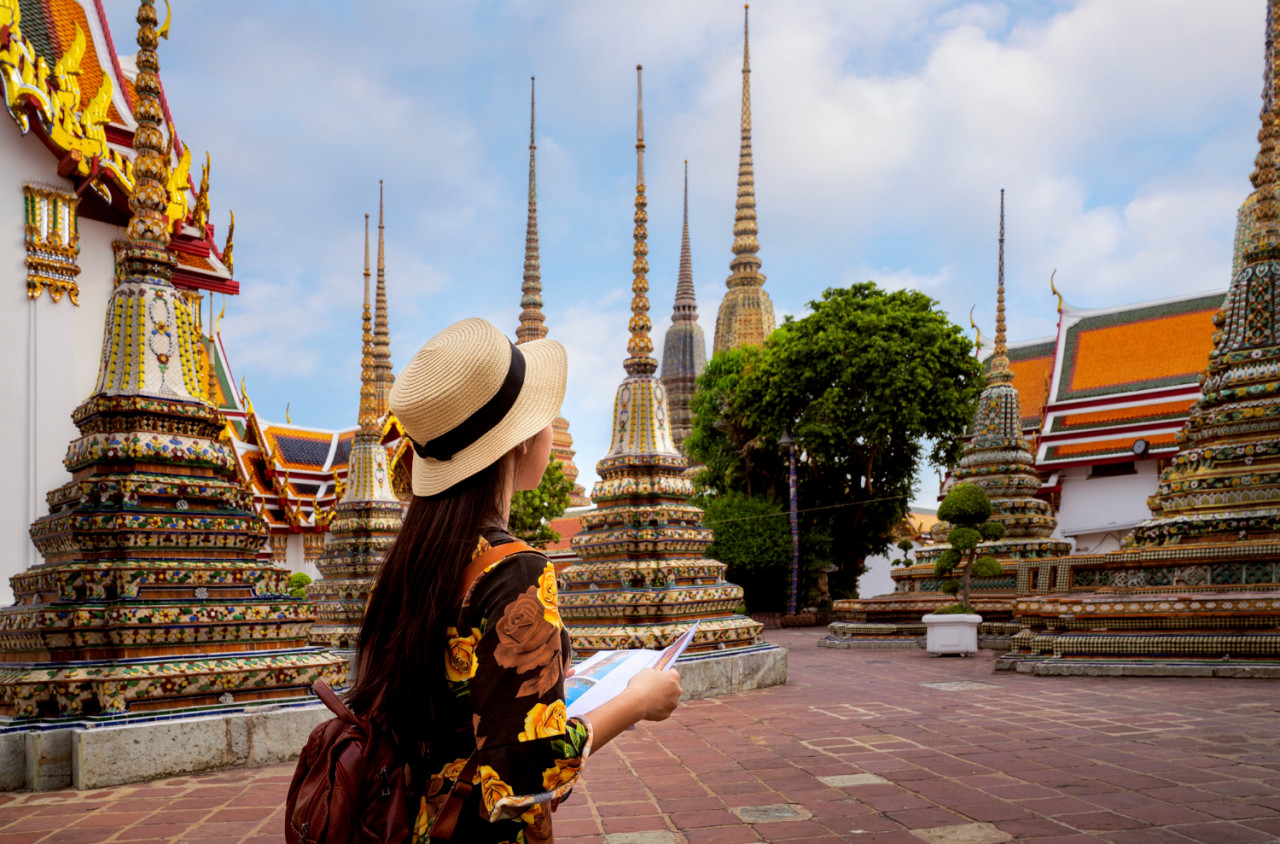
M 312 698 L 108 724 L 0 721 L 0 791 L 96 789 L 285 762 L 302 751 L 312 727 L 330 717 Z

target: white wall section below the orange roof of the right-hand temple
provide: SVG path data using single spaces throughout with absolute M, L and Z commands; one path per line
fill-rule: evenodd
M 1059 475 L 1062 499 L 1057 534 L 1075 544 L 1074 555 L 1116 551 L 1133 528 L 1151 517 L 1147 498 L 1160 480 L 1156 460 L 1139 460 L 1135 474 L 1091 476 L 1088 466 Z

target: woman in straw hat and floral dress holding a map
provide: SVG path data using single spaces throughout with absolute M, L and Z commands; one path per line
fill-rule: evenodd
M 419 795 L 424 843 L 468 759 L 477 784 L 454 841 L 550 841 L 552 811 L 586 757 L 680 699 L 675 671 L 645 671 L 585 717 L 566 717 L 570 639 L 545 556 L 508 556 L 515 491 L 541 480 L 564 398 L 556 341 L 513 346 L 483 319 L 449 325 L 396 380 L 390 409 L 413 444 L 413 501 L 378 574 L 347 702 L 388 726 Z

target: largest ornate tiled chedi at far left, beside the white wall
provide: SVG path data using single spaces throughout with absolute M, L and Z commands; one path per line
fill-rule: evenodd
M 302 699 L 346 674 L 307 647 L 311 606 L 266 540 L 224 418 L 202 397 L 198 330 L 170 278 L 168 161 L 154 0 L 138 12 L 132 219 L 93 394 L 76 409 L 72 480 L 31 526 L 44 562 L 0 611 L 0 715 L 120 715 Z

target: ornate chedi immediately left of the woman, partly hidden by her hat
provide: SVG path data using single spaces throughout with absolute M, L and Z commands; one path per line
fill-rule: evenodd
M 347 460 L 347 485 L 329 520 L 324 551 L 316 561 L 320 580 L 307 587 L 316 602 L 311 643 L 353 651 L 369 592 L 387 549 L 403 521 L 403 505 L 392 489 L 387 447 L 378 414 L 376 346 L 369 312 L 369 215 L 365 215 L 365 307 L 360 360 L 360 429 Z

